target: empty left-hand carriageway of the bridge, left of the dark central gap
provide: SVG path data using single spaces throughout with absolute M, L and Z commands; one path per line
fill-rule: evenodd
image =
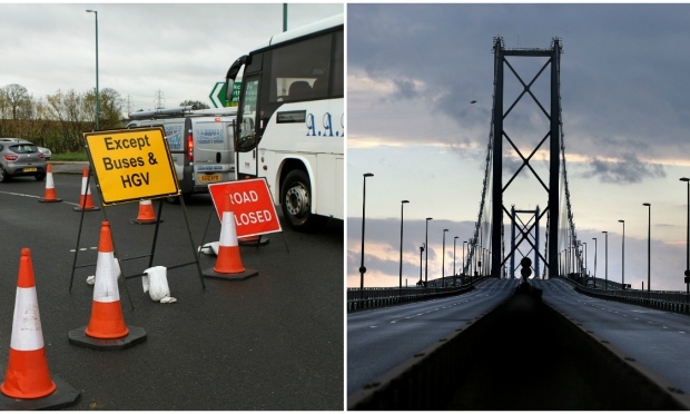
M 516 280 L 489 279 L 470 293 L 347 315 L 347 395 L 506 300 Z

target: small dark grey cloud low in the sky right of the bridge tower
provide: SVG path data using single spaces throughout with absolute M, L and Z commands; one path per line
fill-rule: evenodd
M 644 178 L 666 177 L 662 165 L 642 162 L 633 152 L 622 154 L 619 160 L 603 160 L 594 156 L 590 158 L 589 165 L 591 170 L 583 172 L 581 177 L 599 177 L 601 183 L 607 184 L 637 184 Z

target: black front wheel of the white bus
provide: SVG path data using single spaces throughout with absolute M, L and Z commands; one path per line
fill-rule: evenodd
M 310 230 L 325 221 L 312 214 L 312 187 L 306 172 L 295 169 L 283 181 L 283 216 L 295 230 Z

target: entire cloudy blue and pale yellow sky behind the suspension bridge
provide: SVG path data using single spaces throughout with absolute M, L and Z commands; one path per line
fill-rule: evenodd
M 347 286 L 359 285 L 364 172 L 374 174 L 366 181 L 365 286 L 398 283 L 403 199 L 411 201 L 404 210 L 403 284 L 420 278 L 425 217 L 434 218 L 430 279 L 442 273 L 444 228 L 445 275 L 453 272 L 454 236 L 460 268 L 462 241 L 472 237 L 479 213 L 491 129 L 493 38 L 501 36 L 506 48 L 548 49 L 552 38 L 562 39 L 568 174 L 590 268 L 597 244 L 597 274 L 604 277 L 601 231 L 608 230 L 609 278 L 621 280 L 618 220 L 624 219 L 625 283 L 647 284 L 642 203 L 651 203 L 652 289 L 684 290 L 688 188 L 679 178 L 690 177 L 689 19 L 690 6 L 680 3 L 348 4 Z M 544 63 L 509 61 L 525 83 Z M 521 88 L 505 71 L 507 108 Z M 535 95 L 549 108 L 549 78 L 539 79 Z M 548 132 L 548 121 L 529 97 L 515 108 L 505 131 L 526 157 Z M 522 162 L 505 140 L 504 149 L 505 184 Z M 548 183 L 546 161 L 548 154 L 538 154 L 531 165 Z M 513 204 L 543 209 L 546 200 L 531 174 L 522 172 L 503 203 L 509 209 Z

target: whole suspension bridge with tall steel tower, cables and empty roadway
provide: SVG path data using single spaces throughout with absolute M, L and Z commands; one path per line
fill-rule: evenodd
M 583 260 L 562 51 L 559 38 L 544 49 L 493 39 L 491 131 L 467 259 L 447 284 L 348 288 L 349 410 L 690 408 L 690 295 L 632 290 L 592 277 Z M 539 60 L 533 77 L 514 63 L 522 58 Z M 526 102 L 543 115 L 529 134 L 519 115 Z M 512 170 L 509 155 L 519 159 Z M 526 204 L 515 189 L 525 175 L 542 196 L 509 204 Z

